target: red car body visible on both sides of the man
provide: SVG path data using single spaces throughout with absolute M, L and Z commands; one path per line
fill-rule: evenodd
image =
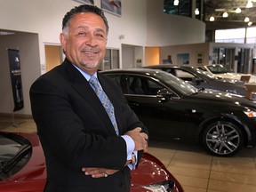
M 0 138 L 1 133 L 3 132 L 0 132 Z M 32 146 L 32 153 L 28 162 L 24 164 L 18 172 L 15 172 L 10 177 L 7 176 L 4 180 L 2 177 L 2 181 L 0 181 L 0 192 L 43 192 L 46 181 L 46 168 L 44 152 L 36 132 L 9 132 L 7 134 L 4 132 L 4 134 L 7 136 L 13 134 L 19 135 L 28 140 Z M 170 186 L 172 185 L 172 189 L 167 191 L 183 192 L 178 180 L 168 172 L 164 167 L 164 164 L 162 164 L 155 156 L 145 153 L 140 160 L 138 169 L 132 171 L 131 192 L 154 191 L 152 189 L 147 189 L 147 186 L 162 182 L 169 182 Z

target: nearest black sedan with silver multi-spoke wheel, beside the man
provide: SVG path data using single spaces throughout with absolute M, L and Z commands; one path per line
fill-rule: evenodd
M 212 155 L 256 145 L 256 105 L 241 95 L 197 89 L 155 69 L 101 71 L 123 89 L 150 140 L 200 140 Z

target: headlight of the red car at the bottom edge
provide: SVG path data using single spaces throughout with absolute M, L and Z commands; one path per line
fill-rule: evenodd
M 150 192 L 172 192 L 173 187 L 174 182 L 172 180 L 164 181 L 161 183 L 155 183 L 148 186 L 143 186 L 143 188 L 148 189 Z

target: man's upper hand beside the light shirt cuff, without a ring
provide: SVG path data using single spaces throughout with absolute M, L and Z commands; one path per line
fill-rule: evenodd
M 148 135 L 145 132 L 141 132 L 141 128 L 137 127 L 132 131 L 125 132 L 124 134 L 129 135 L 135 143 L 136 151 L 143 150 L 147 152 L 148 150 Z

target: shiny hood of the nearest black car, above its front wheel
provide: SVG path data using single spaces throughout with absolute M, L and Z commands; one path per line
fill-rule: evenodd
M 239 103 L 239 105 L 246 106 L 246 107 L 252 107 L 256 108 L 256 102 L 250 99 L 247 99 L 241 95 L 236 95 L 228 92 L 219 92 L 216 90 L 210 90 L 205 89 L 202 92 L 196 92 L 192 95 L 189 95 L 190 99 L 195 100 L 211 100 L 216 102 L 223 102 L 223 105 L 227 105 L 228 103 L 236 104 Z

